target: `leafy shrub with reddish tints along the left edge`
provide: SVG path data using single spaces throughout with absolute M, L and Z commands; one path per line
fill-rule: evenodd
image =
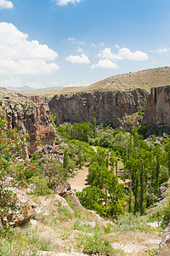
M 11 191 L 5 189 L 4 183 L 8 175 L 13 175 L 17 169 L 13 168 L 17 163 L 16 157 L 22 154 L 27 146 L 24 136 L 20 136 L 16 129 L 7 129 L 7 120 L 3 112 L 0 112 L 0 218 L 8 214 L 9 209 L 14 209 L 15 197 Z

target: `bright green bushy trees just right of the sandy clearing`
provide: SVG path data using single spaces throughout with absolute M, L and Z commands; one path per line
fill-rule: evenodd
M 78 192 L 82 205 L 97 211 L 101 216 L 117 217 L 124 212 L 123 185 L 118 177 L 108 170 L 107 153 L 99 150 L 88 168 L 88 183 L 91 187 Z

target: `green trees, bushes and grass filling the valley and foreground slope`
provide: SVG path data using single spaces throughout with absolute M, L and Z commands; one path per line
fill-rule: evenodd
M 144 111 L 142 112 L 144 113 Z M 7 121 L 0 113 L 0 218 L 8 217 L 8 212 L 15 209 L 16 196 L 7 189 L 8 177 L 12 177 L 8 185 L 18 183 L 26 187 L 34 184 L 29 195 L 48 202 L 53 198 L 52 188 L 58 183 L 64 183 L 69 177 L 70 169 L 88 165 L 88 187 L 78 192 L 77 196 L 82 206 L 99 213 L 100 216 L 115 222 L 114 232 L 150 232 L 156 233 L 161 228 L 153 229 L 148 223 L 159 222 L 166 227 L 170 218 L 170 200 L 167 195 L 167 206 L 161 211 L 145 216 L 146 210 L 156 201 L 157 191 L 161 183 L 170 177 L 170 140 L 162 139 L 156 143 L 156 136 L 144 140 L 145 128 L 139 133 L 113 130 L 110 126 L 98 130 L 96 120 L 93 124 L 60 125 L 58 131 L 65 139 L 68 148 L 59 147 L 64 153 L 64 162 L 33 153 L 26 158 L 24 148 L 26 136 L 20 136 L 15 129 L 7 129 Z M 97 132 L 98 131 L 98 132 Z M 41 144 L 41 141 L 37 141 Z M 92 148 L 93 145 L 94 148 Z M 62 148 L 63 147 L 63 148 Z M 97 153 L 95 152 L 97 151 Z M 121 172 L 122 171 L 122 172 Z M 99 230 L 96 219 L 78 209 L 74 201 L 67 196 L 70 211 L 61 203 L 54 202 L 53 213 L 47 217 L 37 217 L 42 225 L 48 224 L 58 232 L 59 225 L 63 229 L 62 239 L 76 237 L 74 246 L 84 253 L 96 255 L 119 255 L 111 247 L 111 241 L 106 234 L 111 231 L 110 224 L 105 230 Z M 52 203 L 52 202 L 51 202 Z M 52 212 L 51 211 L 51 212 Z M 94 225 L 89 224 L 94 221 Z M 95 224 L 96 222 L 96 224 Z M 5 222 L 3 222 L 5 223 Z M 69 228 L 63 228 L 69 223 Z M 28 227 L 14 232 L 13 228 L 2 224 L 0 226 L 0 255 L 20 255 L 31 252 L 37 255 L 38 250 L 52 250 L 49 240 L 40 236 L 40 230 Z M 56 232 L 57 230 L 57 232 Z M 78 232 L 76 232 L 78 231 Z M 75 233 L 74 233 L 75 232 Z M 71 238 L 72 239 L 72 238 Z M 66 242 L 65 242 L 66 243 Z M 56 248 L 55 248 L 56 249 Z M 69 249 L 67 248 L 69 251 Z M 66 249 L 65 249 L 66 251 Z M 144 255 L 156 255 L 152 249 Z

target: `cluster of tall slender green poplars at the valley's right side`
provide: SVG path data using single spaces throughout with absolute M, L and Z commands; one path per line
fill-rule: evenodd
M 137 132 L 132 133 L 125 144 L 123 162 L 128 170 L 128 178 L 132 181 L 134 212 L 140 212 L 141 215 L 144 214 L 147 204 L 153 202 L 150 201 L 150 196 L 156 195 L 161 182 L 167 181 L 169 177 L 164 166 L 168 156 L 162 153 L 160 146 L 146 143 Z M 131 188 L 129 193 L 131 194 Z M 129 211 L 130 205 L 131 200 Z

